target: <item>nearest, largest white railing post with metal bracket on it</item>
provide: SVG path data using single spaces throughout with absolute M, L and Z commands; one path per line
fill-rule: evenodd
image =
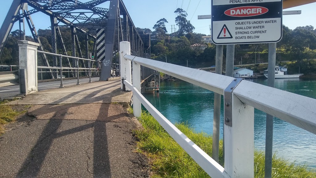
M 237 86 L 238 87 L 238 86 Z M 254 109 L 232 93 L 232 127 L 224 125 L 225 172 L 231 177 L 254 177 Z

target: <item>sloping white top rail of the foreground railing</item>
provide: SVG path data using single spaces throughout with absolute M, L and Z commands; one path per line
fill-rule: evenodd
M 142 66 L 161 71 L 221 95 L 224 95 L 224 90 L 234 80 L 233 77 L 178 66 L 157 60 L 149 60 L 127 54 L 124 56 L 124 58 L 126 60 L 133 60 Z M 245 88 L 251 88 L 251 90 L 245 90 Z M 269 92 L 268 95 L 262 96 L 262 93 L 267 92 Z M 238 87 L 234 89 L 233 93 L 247 105 L 251 105 L 258 110 L 264 111 L 313 134 L 316 134 L 316 99 L 304 97 L 295 93 L 286 92 L 246 80 L 241 81 Z M 280 102 L 283 104 L 276 104 L 277 100 L 280 100 Z M 295 100 L 295 103 L 293 103 L 293 100 Z M 288 103 L 288 105 L 285 103 Z M 291 109 L 289 109 L 289 106 L 291 106 Z M 297 120 L 298 122 L 293 122 L 292 120 Z M 309 124 L 312 124 L 313 127 L 311 128 L 308 126 Z

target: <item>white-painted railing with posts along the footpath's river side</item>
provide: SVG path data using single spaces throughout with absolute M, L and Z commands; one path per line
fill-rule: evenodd
M 254 108 L 316 134 L 316 99 L 246 80 L 238 82 L 233 77 L 135 57 L 130 55 L 129 48 L 128 42 L 120 43 L 120 49 L 124 49 L 120 52 L 121 68 L 130 67 L 130 61 L 133 67 L 132 84 L 130 73 L 121 73 L 121 77 L 125 86 L 133 91 L 134 115 L 140 116 L 142 103 L 169 135 L 211 177 L 254 177 Z M 195 145 L 142 96 L 140 93 L 141 65 L 224 95 L 225 169 Z M 278 103 L 281 102 L 283 104 L 279 105 Z

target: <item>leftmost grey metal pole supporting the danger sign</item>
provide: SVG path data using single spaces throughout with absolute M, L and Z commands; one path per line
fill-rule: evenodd
M 223 45 L 216 45 L 215 73 L 222 75 Z M 214 118 L 213 118 L 213 145 L 212 158 L 218 162 L 219 154 L 219 133 L 221 117 L 221 94 L 214 92 Z

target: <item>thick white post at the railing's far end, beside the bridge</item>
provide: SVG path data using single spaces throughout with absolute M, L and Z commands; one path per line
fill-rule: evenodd
M 120 73 L 121 80 L 124 78 L 128 82 L 132 83 L 132 69 L 131 61 L 124 59 L 124 55 L 131 55 L 131 44 L 128 41 L 121 41 L 119 43 L 119 60 L 120 60 Z M 123 90 L 123 84 L 121 84 L 121 89 Z M 131 91 L 129 88 L 126 88 L 126 91 Z

